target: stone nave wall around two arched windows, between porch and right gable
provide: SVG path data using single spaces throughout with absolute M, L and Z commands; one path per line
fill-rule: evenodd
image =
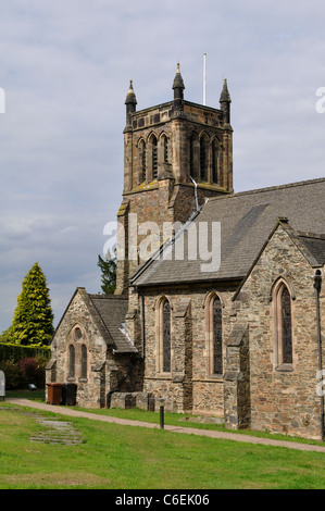
M 235 287 L 207 286 L 143 290 L 146 317 L 146 367 L 143 391 L 166 400 L 166 410 L 224 415 L 224 383 L 208 371 L 208 332 L 204 302 L 208 292 L 218 291 L 223 302 L 223 335 L 232 328 Z M 157 304 L 165 296 L 172 307 L 172 371 L 159 371 Z M 226 352 L 224 349 L 224 358 Z

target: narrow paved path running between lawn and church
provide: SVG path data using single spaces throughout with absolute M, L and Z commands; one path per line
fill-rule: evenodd
M 73 410 L 66 407 L 59 407 L 55 404 L 46 404 L 37 401 L 29 401 L 28 399 L 7 399 L 7 402 L 13 404 L 20 404 L 22 407 L 35 408 L 37 410 L 47 410 L 49 412 L 59 413 L 60 415 L 77 416 L 84 419 L 90 419 L 91 421 L 102 421 L 109 422 L 111 424 L 120 424 L 122 426 L 139 426 L 139 427 L 150 427 L 159 428 L 159 424 L 152 424 L 150 422 L 142 421 L 130 421 L 127 419 L 118 419 L 108 415 L 99 415 L 97 413 L 82 412 L 79 410 Z M 308 444 L 297 444 L 295 441 L 285 441 L 285 440 L 273 440 L 271 438 L 258 438 L 250 435 L 242 435 L 239 433 L 225 433 L 216 432 L 212 429 L 198 429 L 193 427 L 182 427 L 182 426 L 168 426 L 165 424 L 165 431 L 173 433 L 183 433 L 187 435 L 198 435 L 198 436 L 208 436 L 210 438 L 217 438 L 223 440 L 235 440 L 243 441 L 246 444 L 259 444 L 263 446 L 274 446 L 274 447 L 287 447 L 288 449 L 298 449 L 301 451 L 315 451 L 324 452 L 325 446 L 312 446 Z

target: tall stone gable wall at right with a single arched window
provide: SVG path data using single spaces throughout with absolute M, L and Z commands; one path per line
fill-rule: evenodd
M 313 271 L 279 226 L 237 297 L 237 321 L 249 324 L 251 427 L 320 439 L 316 312 Z M 275 361 L 272 288 L 292 294 L 292 366 Z M 322 299 L 324 324 L 324 298 Z

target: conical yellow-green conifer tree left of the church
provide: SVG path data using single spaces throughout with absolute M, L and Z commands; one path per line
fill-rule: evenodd
M 53 333 L 49 289 L 37 262 L 25 276 L 17 298 L 12 322 L 13 342 L 22 346 L 47 346 Z

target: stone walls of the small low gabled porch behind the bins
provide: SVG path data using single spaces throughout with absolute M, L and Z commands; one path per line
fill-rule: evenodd
M 87 294 L 79 288 L 73 297 L 52 341 L 52 358 L 48 364 L 46 383 L 76 384 L 77 404 L 102 408 L 112 390 L 141 390 L 142 363 L 137 356 L 113 354 L 86 306 Z M 82 337 L 75 338 L 78 327 Z M 75 375 L 70 375 L 68 346 L 76 353 Z M 87 347 L 87 376 L 80 373 L 80 347 Z

